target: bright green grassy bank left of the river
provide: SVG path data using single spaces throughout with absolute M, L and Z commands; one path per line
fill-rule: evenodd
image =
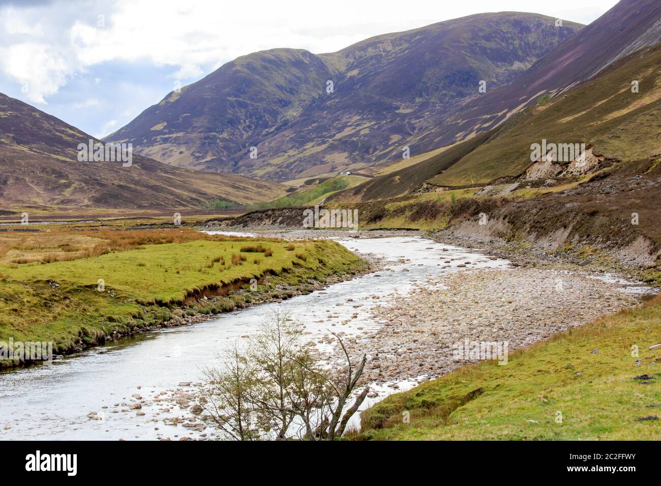
M 334 241 L 232 237 L 159 243 L 169 239 L 126 233 L 157 244 L 70 261 L 0 264 L 0 341 L 52 341 L 56 354 L 67 354 L 113 333 L 309 292 L 315 282 L 368 267 Z M 190 233 L 189 239 L 197 232 Z M 254 290 L 251 279 L 257 281 Z

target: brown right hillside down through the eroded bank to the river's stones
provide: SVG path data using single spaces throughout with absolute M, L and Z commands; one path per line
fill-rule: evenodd
M 658 286 L 660 65 L 661 43 L 633 52 L 498 128 L 336 192 L 325 204 L 357 210 L 361 229 L 430 229 L 446 241 L 602 271 L 615 263 L 631 270 L 632 280 Z M 562 157 L 535 153 L 533 144 L 543 140 L 584 144 L 585 157 L 565 157 L 564 149 L 557 151 Z M 258 225 L 260 216 L 237 222 Z

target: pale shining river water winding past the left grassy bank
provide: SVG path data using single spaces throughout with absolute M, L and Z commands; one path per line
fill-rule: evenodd
M 163 411 L 163 404 L 145 403 L 141 409 L 144 415 L 138 415 L 129 409 L 136 403 L 132 395 L 138 393 L 150 401 L 165 390 L 186 391 L 189 387 L 180 385 L 182 382 L 200 382 L 204 368 L 229 344 L 253 334 L 272 309 L 286 308 L 305 323 L 315 341 L 329 329 L 347 335 L 373 332 L 381 325 L 369 316 L 369 307 L 375 303 L 406 298 L 416 283 L 428 278 L 467 268 L 506 268 L 509 264 L 422 237 L 338 241 L 359 253 L 385 259 L 385 267 L 282 303 L 256 305 L 205 323 L 122 339 L 56 360 L 50 366 L 1 373 L 0 440 L 176 440 L 184 435 L 208 434 L 209 429 L 190 431 L 165 425 L 164 418 L 187 411 Z M 449 268 L 444 268 L 446 260 L 451 260 Z M 471 264 L 467 268 L 457 266 L 468 261 Z M 375 295 L 379 300 L 372 298 Z M 351 319 L 356 312 L 358 317 Z M 343 325 L 342 321 L 350 322 Z M 413 384 L 399 384 L 400 390 Z M 368 399 L 364 407 L 392 390 L 379 391 L 380 396 Z M 100 420 L 90 419 L 91 412 L 97 412 Z

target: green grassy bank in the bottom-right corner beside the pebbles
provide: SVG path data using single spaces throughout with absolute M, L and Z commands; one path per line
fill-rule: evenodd
M 661 295 L 512 352 L 505 366 L 465 366 L 391 395 L 351 437 L 659 440 L 661 348 L 648 350 L 659 343 Z

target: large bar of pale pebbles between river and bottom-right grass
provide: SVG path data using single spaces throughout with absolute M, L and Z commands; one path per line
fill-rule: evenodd
M 435 378 L 475 360 L 455 359 L 455 343 L 506 342 L 524 348 L 571 327 L 639 305 L 621 286 L 588 274 L 516 268 L 470 270 L 420 284 L 406 299 L 377 305 L 383 327 L 353 343 L 366 353 L 367 382 Z

